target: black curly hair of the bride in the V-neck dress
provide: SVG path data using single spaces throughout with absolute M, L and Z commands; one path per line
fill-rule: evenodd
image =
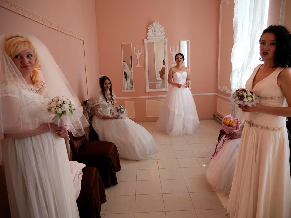
M 291 34 L 289 31 L 281 25 L 271 25 L 266 28 L 259 40 L 265 33 L 273 33 L 276 37 L 276 54 L 275 54 L 275 66 L 274 67 L 287 67 L 291 66 Z M 263 58 L 260 58 L 264 61 Z

